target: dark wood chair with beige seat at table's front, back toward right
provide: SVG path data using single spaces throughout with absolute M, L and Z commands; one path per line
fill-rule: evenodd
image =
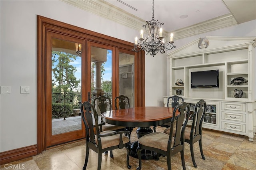
M 178 115 L 176 116 L 176 111 L 178 111 Z M 180 105 L 174 107 L 174 111 L 172 114 L 172 119 L 170 122 L 170 134 L 166 134 L 163 132 L 154 132 L 150 134 L 146 134 L 139 138 L 138 140 L 138 148 L 137 155 L 139 158 L 139 166 L 137 170 L 141 169 L 141 151 L 143 149 L 153 150 L 157 152 L 157 160 L 160 154 L 163 154 L 167 157 L 167 167 L 168 170 L 171 170 L 171 158 L 178 152 L 180 152 L 181 162 L 183 170 L 186 170 L 185 160 L 184 160 L 184 132 L 186 125 L 188 123 L 188 115 L 190 112 L 190 106 L 182 102 Z M 184 122 L 185 119 L 185 122 Z M 175 124 L 176 122 L 176 124 Z M 183 124 L 184 123 L 184 124 Z M 175 127 L 174 127 L 175 126 Z M 175 135 L 172 136 L 172 132 L 174 131 Z

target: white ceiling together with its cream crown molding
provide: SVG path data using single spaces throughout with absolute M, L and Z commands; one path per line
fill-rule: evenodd
M 135 29 L 152 20 L 152 0 L 61 0 Z M 180 16 L 188 15 L 187 18 Z M 154 0 L 154 19 L 163 37 L 175 40 L 256 20 L 256 0 Z M 255 26 L 256 27 L 256 26 Z

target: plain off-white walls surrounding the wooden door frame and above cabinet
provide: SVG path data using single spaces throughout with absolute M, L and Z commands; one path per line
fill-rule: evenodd
M 36 144 L 36 15 L 45 16 L 81 28 L 134 42 L 139 32 L 75 8 L 61 1 L 0 0 L 0 86 L 10 86 L 11 94 L 0 97 L 0 152 Z M 79 17 L 79 20 L 77 19 Z M 245 23 L 246 24 L 246 23 Z M 255 33 L 255 21 L 249 22 Z M 214 35 L 249 36 L 248 27 L 235 26 Z M 232 30 L 231 32 L 229 30 Z M 241 33 L 242 32 L 242 33 Z M 205 36 L 213 36 L 205 34 Z M 227 36 L 227 35 L 225 35 Z M 253 36 L 253 35 L 250 35 Z M 254 35 L 255 36 L 255 35 Z M 176 48 L 198 37 L 176 41 Z M 169 61 L 165 54 L 146 56 L 146 106 L 163 106 L 169 95 Z M 30 86 L 29 94 L 20 94 L 20 86 Z M 169 85 L 168 85 L 169 86 Z

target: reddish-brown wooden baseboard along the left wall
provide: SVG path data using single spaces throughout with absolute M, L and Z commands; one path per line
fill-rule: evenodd
M 1 152 L 0 155 L 1 165 L 16 160 L 28 158 L 30 156 L 35 156 L 37 155 L 37 144 Z

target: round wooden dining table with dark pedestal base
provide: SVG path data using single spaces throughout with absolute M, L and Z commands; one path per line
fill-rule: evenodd
M 130 133 L 132 128 L 138 127 L 136 130 L 137 137 L 152 133 L 151 126 L 162 125 L 168 123 L 172 119 L 174 108 L 172 107 L 133 107 L 129 109 L 119 109 L 106 111 L 102 113 L 102 120 L 105 123 L 112 125 L 130 127 Z M 176 115 L 178 115 L 178 110 Z M 131 144 L 131 156 L 138 158 L 136 149 L 138 142 L 132 142 Z M 141 152 L 142 159 L 155 159 L 157 153 L 151 150 L 143 150 Z

